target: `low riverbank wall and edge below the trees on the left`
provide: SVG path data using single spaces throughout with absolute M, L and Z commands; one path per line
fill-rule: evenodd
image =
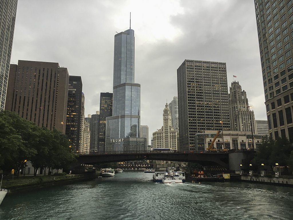
M 50 187 L 54 185 L 71 184 L 73 182 L 93 180 L 97 176 L 96 172 L 84 172 L 78 175 L 37 175 L 37 176 L 23 176 L 17 179 L 8 179 L 2 181 L 1 188 L 7 189 L 8 193 L 15 191 Z

